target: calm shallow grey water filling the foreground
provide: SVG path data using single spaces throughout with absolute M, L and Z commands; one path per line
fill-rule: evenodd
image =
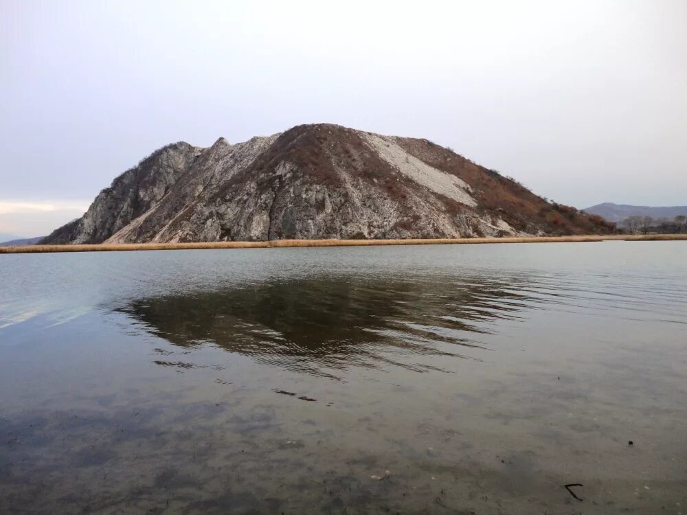
M 687 242 L 0 255 L 0 512 L 687 514 L 686 361 Z

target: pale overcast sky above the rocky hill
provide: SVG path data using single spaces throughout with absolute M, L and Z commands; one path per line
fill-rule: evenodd
M 687 1 L 0 0 L 0 232 L 172 141 L 331 122 L 555 201 L 687 204 Z

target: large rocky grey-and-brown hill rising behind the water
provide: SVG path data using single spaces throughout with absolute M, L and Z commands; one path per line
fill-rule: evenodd
M 331 124 L 209 148 L 183 141 L 118 176 L 44 243 L 581 234 L 599 217 L 548 203 L 426 139 Z

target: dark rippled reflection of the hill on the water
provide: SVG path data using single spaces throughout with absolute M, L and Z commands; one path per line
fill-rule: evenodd
M 174 345 L 229 352 L 313 374 L 384 363 L 417 371 L 421 355 L 459 356 L 475 333 L 532 297 L 524 279 L 358 276 L 243 284 L 137 299 L 119 310 Z

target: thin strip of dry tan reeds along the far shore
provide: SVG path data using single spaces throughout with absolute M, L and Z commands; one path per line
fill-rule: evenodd
M 121 252 L 199 249 L 272 249 L 278 247 L 368 247 L 377 245 L 447 245 L 491 243 L 557 243 L 602 241 L 675 241 L 687 240 L 687 234 L 614 234 L 607 236 L 517 236 L 510 238 L 434 238 L 412 240 L 270 240 L 262 242 L 194 243 L 94 243 L 64 245 L 18 245 L 0 247 L 0 254 L 53 252 Z

